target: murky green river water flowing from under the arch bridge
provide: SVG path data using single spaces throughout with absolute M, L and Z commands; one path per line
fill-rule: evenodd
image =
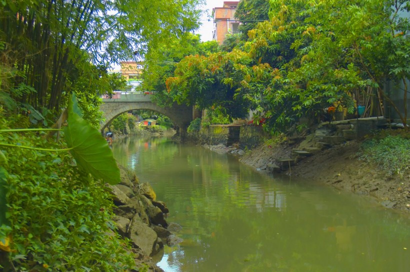
M 183 227 L 184 241 L 156 256 L 166 272 L 410 271 L 408 216 L 366 196 L 166 138 L 126 138 L 112 151 Z

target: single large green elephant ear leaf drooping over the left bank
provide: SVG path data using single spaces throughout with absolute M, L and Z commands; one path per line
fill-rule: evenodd
M 64 128 L 67 145 L 72 148 L 70 153 L 77 165 L 95 178 L 109 184 L 119 183 L 119 168 L 108 143 L 97 129 L 73 110 L 73 106 L 76 106 L 73 99 L 68 101 L 68 125 Z

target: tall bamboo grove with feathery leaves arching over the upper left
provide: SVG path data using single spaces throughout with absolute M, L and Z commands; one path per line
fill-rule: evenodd
M 68 93 L 97 104 L 120 78 L 112 63 L 197 26 L 198 0 L 6 0 L 0 2 L 1 104 L 58 112 Z M 16 103 L 13 103 L 16 102 Z M 85 106 L 86 107 L 86 106 Z M 31 110 L 32 111 L 32 110 Z

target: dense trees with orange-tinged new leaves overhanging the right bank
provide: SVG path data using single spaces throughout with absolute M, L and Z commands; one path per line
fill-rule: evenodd
M 334 105 L 354 113 L 358 99 L 390 104 L 383 84 L 401 83 L 407 100 L 410 8 L 405 0 L 246 0 L 237 17 L 265 18 L 243 36 L 228 36 L 225 52 L 190 55 L 166 79 L 168 97 L 200 109 L 221 108 L 242 117 L 248 109 L 266 118 L 271 132 L 286 131 L 301 117 L 317 121 Z M 252 9 L 251 7 L 258 7 Z M 331 11 L 331 12 L 329 12 Z M 400 94 L 401 95 L 401 94 Z M 404 112 L 404 113 L 403 113 Z

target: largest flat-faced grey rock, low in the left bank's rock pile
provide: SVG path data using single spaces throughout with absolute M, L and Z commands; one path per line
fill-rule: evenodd
M 138 247 L 146 255 L 152 255 L 155 253 L 156 240 L 158 236 L 155 231 L 147 224 L 142 222 L 138 214 L 132 218 L 132 222 L 129 226 L 128 237 L 134 247 Z

